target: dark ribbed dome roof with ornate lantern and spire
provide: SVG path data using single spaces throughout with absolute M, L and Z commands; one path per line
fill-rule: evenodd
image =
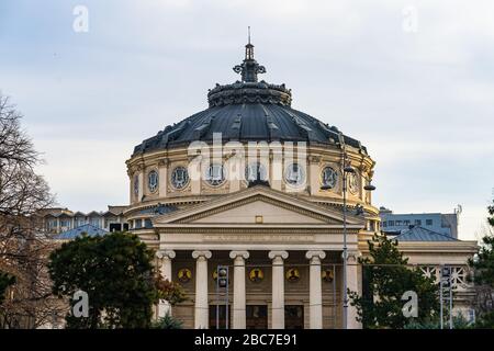
M 213 133 L 222 133 L 223 143 L 306 141 L 308 144 L 347 144 L 367 154 L 360 141 L 343 135 L 308 114 L 291 107 L 292 95 L 284 84 L 257 81 L 266 72 L 254 59 L 254 45 L 246 45 L 246 58 L 234 71 L 243 81 L 210 90 L 210 107 L 167 126 L 134 148 L 134 155 L 188 146 L 191 141 L 212 141 Z

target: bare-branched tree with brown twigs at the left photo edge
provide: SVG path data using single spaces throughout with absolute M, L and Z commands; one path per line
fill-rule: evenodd
M 0 93 L 0 271 L 15 276 L 0 305 L 0 328 L 36 328 L 66 313 L 52 295 L 47 260 L 54 244 L 40 215 L 54 197 L 34 171 L 42 160 L 21 117 Z

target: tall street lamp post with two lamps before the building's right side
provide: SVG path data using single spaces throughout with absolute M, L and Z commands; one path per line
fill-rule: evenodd
M 347 248 L 347 173 L 355 173 L 355 169 L 347 163 L 347 151 L 345 145 L 343 146 L 343 200 L 344 200 L 344 247 L 343 247 L 343 329 L 348 329 L 348 284 L 347 284 L 347 265 L 348 265 L 348 248 Z M 321 190 L 332 189 L 328 185 L 321 186 Z M 366 191 L 374 191 L 375 186 L 367 184 L 363 186 Z

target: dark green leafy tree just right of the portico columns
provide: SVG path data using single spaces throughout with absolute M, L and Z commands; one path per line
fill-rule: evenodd
M 413 291 L 418 296 L 418 322 L 435 318 L 439 310 L 438 286 L 419 269 L 407 267 L 408 259 L 397 248 L 396 240 L 375 235 L 368 241 L 369 256 L 360 259 L 363 294 L 349 292 L 350 304 L 357 307 L 363 328 L 404 328 L 411 322 L 402 308 L 402 296 Z

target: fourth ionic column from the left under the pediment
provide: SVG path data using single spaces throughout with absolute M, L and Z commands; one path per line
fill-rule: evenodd
M 288 259 L 287 251 L 269 251 L 272 260 L 272 302 L 271 328 L 284 329 L 284 268 L 283 260 Z

